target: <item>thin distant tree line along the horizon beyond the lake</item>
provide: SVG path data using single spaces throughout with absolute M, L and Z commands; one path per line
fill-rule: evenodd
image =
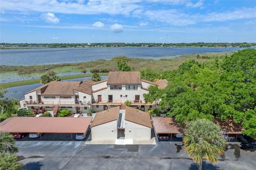
M 8 47 L 252 47 L 256 43 L 0 43 L 1 48 Z

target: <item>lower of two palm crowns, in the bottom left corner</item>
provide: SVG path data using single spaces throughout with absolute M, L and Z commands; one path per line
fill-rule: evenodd
M 0 153 L 0 169 L 18 170 L 21 168 L 22 164 L 18 163 L 17 155 L 14 153 Z

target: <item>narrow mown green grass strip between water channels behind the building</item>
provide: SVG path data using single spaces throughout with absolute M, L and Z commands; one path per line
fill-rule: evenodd
M 100 76 L 107 76 L 108 73 L 99 73 Z M 73 78 L 82 78 L 82 77 L 91 77 L 92 74 L 81 74 L 81 75 L 70 75 L 70 76 L 60 76 L 61 80 L 66 80 L 66 79 L 73 79 Z M 17 82 L 8 82 L 8 83 L 0 83 L 0 87 L 2 88 L 7 88 L 7 87 L 16 87 L 16 86 L 23 86 L 23 85 L 28 85 L 28 84 L 36 84 L 40 83 L 40 79 L 31 79 L 31 80 L 22 80 L 22 81 L 17 81 Z

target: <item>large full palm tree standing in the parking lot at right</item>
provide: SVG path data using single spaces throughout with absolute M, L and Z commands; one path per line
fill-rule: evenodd
M 225 151 L 226 140 L 222 138 L 221 129 L 210 120 L 198 119 L 190 122 L 185 130 L 183 143 L 188 156 L 202 169 L 203 159 L 212 164 L 217 163 L 216 154 Z

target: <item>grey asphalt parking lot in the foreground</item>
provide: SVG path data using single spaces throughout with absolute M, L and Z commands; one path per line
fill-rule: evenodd
M 70 141 L 70 134 L 63 135 L 63 140 L 47 135 L 42 136 L 47 140 L 17 141 L 18 156 L 25 169 L 197 169 L 182 142 L 86 145 L 85 141 Z M 228 143 L 217 165 L 204 163 L 203 169 L 255 169 L 255 143 L 251 144 L 250 148 L 241 149 L 240 142 Z

